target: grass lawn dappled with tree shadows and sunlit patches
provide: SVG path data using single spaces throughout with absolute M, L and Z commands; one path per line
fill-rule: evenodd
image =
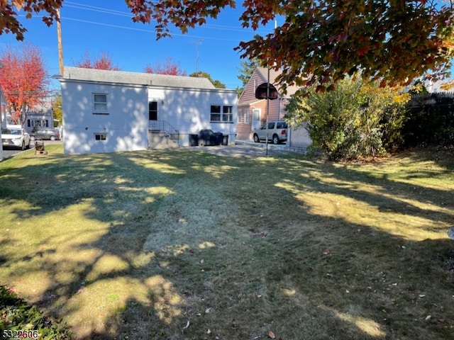
M 453 149 L 0 163 L 0 284 L 74 339 L 454 339 Z

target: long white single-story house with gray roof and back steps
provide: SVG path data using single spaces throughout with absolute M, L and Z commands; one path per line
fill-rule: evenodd
M 235 141 L 236 90 L 206 78 L 65 67 L 60 83 L 65 154 L 189 145 L 202 129 Z

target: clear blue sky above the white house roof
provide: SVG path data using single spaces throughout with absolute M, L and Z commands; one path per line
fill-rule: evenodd
M 172 38 L 156 40 L 153 23 L 133 23 L 124 1 L 65 0 L 60 11 L 64 64 L 74 66 L 86 52 L 92 59 L 105 52 L 121 70 L 143 72 L 145 65 L 157 62 L 163 65 L 170 58 L 188 75 L 198 69 L 228 89 L 236 89 L 242 86 L 238 80 L 240 56 L 233 48 L 241 40 L 248 41 L 255 34 L 265 35 L 274 28 L 274 23 L 257 31 L 241 28 L 238 18 L 243 8 L 238 6 L 224 9 L 218 19 L 210 19 L 205 26 L 187 34 L 172 28 Z M 19 18 L 28 30 L 23 42 L 38 46 L 48 73 L 58 74 L 57 25 L 46 26 L 40 16 Z M 0 35 L 1 50 L 23 42 L 11 34 Z M 60 87 L 57 81 L 52 81 L 51 86 Z

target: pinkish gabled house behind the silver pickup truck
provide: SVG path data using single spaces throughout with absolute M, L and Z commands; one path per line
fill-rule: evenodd
M 285 107 L 289 103 L 290 96 L 299 88 L 288 86 L 287 94 L 283 95 L 277 86 L 275 79 L 279 72 L 270 69 L 270 84 L 277 89 L 277 99 L 267 101 L 266 99 L 256 99 L 255 90 L 268 82 L 268 69 L 257 67 L 246 84 L 243 93 L 238 99 L 238 120 L 237 120 L 237 140 L 253 140 L 253 130 L 260 128 L 267 120 L 267 103 L 270 103 L 268 120 L 282 120 L 285 115 Z M 305 148 L 311 144 L 311 140 L 305 129 L 289 129 L 287 137 L 287 147 Z

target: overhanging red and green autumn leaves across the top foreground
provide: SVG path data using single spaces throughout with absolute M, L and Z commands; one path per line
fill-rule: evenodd
M 16 8 L 6 2 L 0 12 L 0 34 L 23 39 L 25 28 L 16 20 Z M 12 1 L 33 11 L 47 12 L 45 23 L 57 18 L 59 0 Z M 153 23 L 156 37 L 182 33 L 217 18 L 233 0 L 126 0 L 133 21 Z M 454 56 L 453 9 L 443 0 L 243 0 L 240 23 L 257 30 L 277 20 L 267 35 L 239 42 L 240 56 L 262 60 L 281 69 L 285 84 L 316 85 L 323 91 L 332 81 L 360 71 L 381 86 L 409 84 L 422 76 L 448 75 Z M 333 86 L 331 86 L 332 88 Z

